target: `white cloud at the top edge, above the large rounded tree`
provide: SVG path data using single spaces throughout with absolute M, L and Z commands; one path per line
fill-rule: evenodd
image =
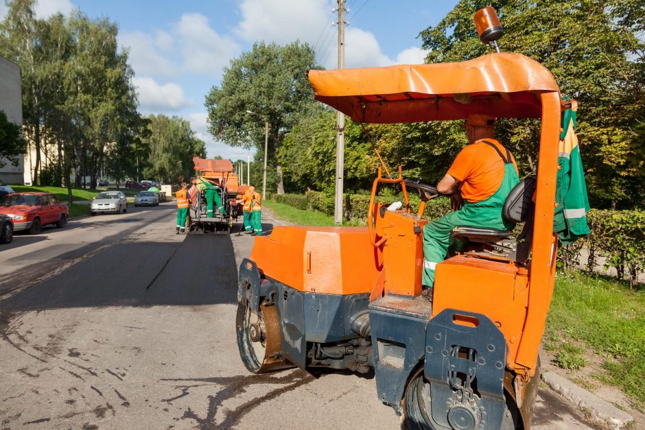
M 331 15 L 329 0 L 244 0 L 239 6 L 242 21 L 235 32 L 244 40 L 265 40 L 280 45 L 296 39 L 316 43 Z

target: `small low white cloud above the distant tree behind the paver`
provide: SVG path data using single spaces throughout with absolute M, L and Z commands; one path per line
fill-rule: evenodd
M 137 87 L 139 106 L 145 112 L 172 111 L 194 105 L 183 88 L 173 82 L 160 85 L 152 77 L 133 77 L 132 84 Z

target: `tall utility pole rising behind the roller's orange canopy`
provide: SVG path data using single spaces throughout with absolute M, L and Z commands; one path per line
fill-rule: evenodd
M 345 0 L 338 1 L 338 69 L 345 65 Z M 345 115 L 336 117 L 336 194 L 333 199 L 333 220 L 342 224 L 342 178 L 345 158 Z

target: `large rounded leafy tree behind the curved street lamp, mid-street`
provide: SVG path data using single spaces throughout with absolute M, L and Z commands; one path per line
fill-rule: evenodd
M 306 43 L 255 43 L 250 52 L 231 60 L 224 69 L 221 86 L 213 86 L 206 98 L 209 132 L 215 139 L 231 146 L 255 145 L 261 157 L 264 122 L 246 110 L 266 117 L 268 165 L 275 167 L 278 193 L 284 193 L 284 185 L 282 166 L 276 162 L 275 154 L 298 117 L 312 111 L 314 92 L 306 71 L 316 67 L 315 61 L 315 53 Z M 259 161 L 257 156 L 256 160 Z

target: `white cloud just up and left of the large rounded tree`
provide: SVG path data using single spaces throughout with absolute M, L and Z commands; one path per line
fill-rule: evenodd
M 183 14 L 176 27 L 186 71 L 219 77 L 222 67 L 241 50 L 231 38 L 222 37 L 202 14 Z

